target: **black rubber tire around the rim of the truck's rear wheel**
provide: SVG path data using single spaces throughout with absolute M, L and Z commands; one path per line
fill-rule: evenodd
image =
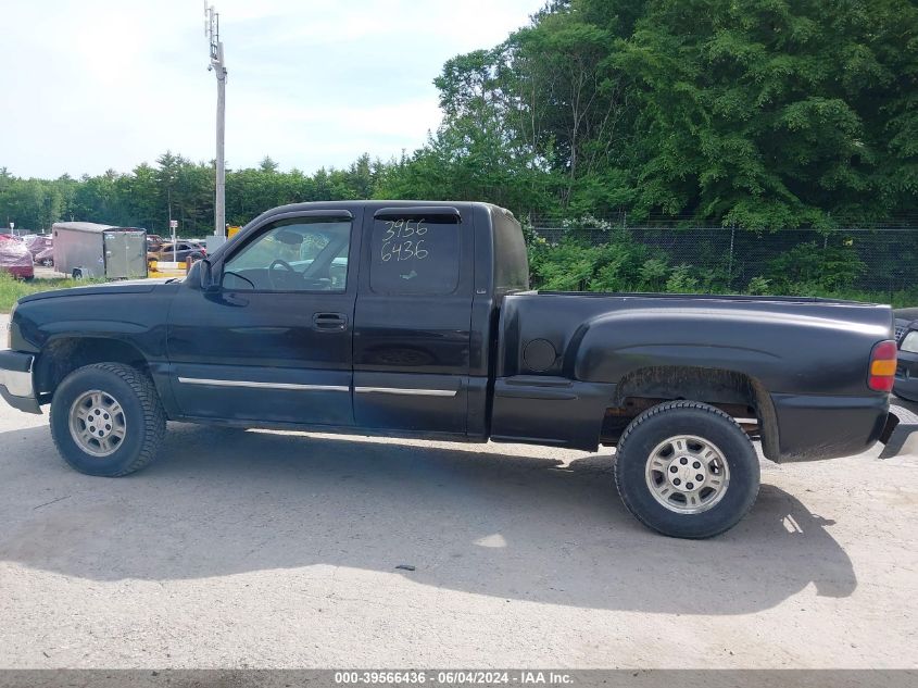
M 651 454 L 677 436 L 701 438 L 724 455 L 729 481 L 719 501 L 706 511 L 672 511 L 657 501 L 651 490 Z M 616 452 L 615 485 L 621 501 L 638 521 L 670 537 L 709 538 L 732 528 L 755 503 L 759 474 L 755 448 L 737 422 L 719 409 L 696 401 L 669 401 L 647 409 L 625 429 Z M 659 483 L 663 484 L 662 477 Z

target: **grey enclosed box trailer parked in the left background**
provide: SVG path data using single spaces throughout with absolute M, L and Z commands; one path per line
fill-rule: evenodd
M 79 278 L 147 277 L 147 230 L 92 222 L 59 222 L 54 236 L 54 270 Z

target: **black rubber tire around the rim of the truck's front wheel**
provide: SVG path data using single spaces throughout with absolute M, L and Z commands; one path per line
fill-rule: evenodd
M 90 390 L 117 400 L 123 410 L 125 437 L 106 456 L 95 456 L 71 433 L 71 409 Z M 144 467 L 156 458 L 166 430 L 166 414 L 146 374 L 123 363 L 95 363 L 77 368 L 58 386 L 51 400 L 51 437 L 71 467 L 87 475 L 120 477 Z M 91 445 L 90 445 L 91 449 Z

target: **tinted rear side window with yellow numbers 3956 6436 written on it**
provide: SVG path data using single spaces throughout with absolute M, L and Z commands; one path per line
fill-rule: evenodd
M 460 278 L 458 217 L 374 220 L 369 287 L 376 293 L 452 293 Z

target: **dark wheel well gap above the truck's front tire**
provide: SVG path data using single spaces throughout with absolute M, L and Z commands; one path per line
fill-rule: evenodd
M 147 359 L 137 347 L 120 339 L 74 337 L 50 341 L 35 366 L 35 384 L 39 395 L 50 396 L 67 375 L 91 363 L 125 363 L 149 373 Z

